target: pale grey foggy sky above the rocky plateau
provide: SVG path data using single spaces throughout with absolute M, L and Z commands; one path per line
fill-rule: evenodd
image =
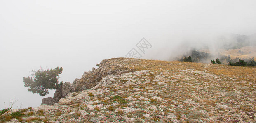
M 255 13 L 255 0 L 0 0 L 0 109 L 13 97 L 25 108 L 53 95 L 23 86 L 33 68 L 62 66 L 60 80 L 73 82 L 143 37 L 153 46 L 143 59 L 167 60 L 184 41 L 255 34 Z

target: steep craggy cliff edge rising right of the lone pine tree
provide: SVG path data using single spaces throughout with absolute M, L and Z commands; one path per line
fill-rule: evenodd
M 90 89 L 96 86 L 96 84 L 98 84 L 97 82 L 100 82 L 102 77 L 105 77 L 107 75 L 120 75 L 122 73 L 136 71 L 136 68 L 130 68 L 124 66 L 124 64 L 130 64 L 130 62 L 134 62 L 137 59 L 129 59 L 129 61 L 127 59 L 122 61 L 122 59 L 125 58 L 113 58 L 103 60 L 99 64 L 99 68 L 95 69 L 93 67 L 92 71 L 84 72 L 82 78 L 75 79 L 73 84 L 71 84 L 70 82 L 65 82 L 60 89 L 56 89 L 53 99 L 57 103 L 61 98 L 64 98 L 68 93 Z

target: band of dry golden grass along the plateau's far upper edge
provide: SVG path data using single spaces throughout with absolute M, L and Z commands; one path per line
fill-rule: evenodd
M 256 81 L 256 68 L 255 67 L 239 67 L 228 65 L 215 65 L 215 64 L 203 64 L 193 62 L 178 62 L 178 61 L 158 61 L 158 60 L 141 60 L 130 66 L 130 68 L 136 70 L 150 70 L 155 72 L 161 71 L 178 71 L 183 69 L 195 69 L 197 71 L 206 71 L 207 73 L 216 75 L 227 76 L 251 76 L 249 80 L 251 82 Z

